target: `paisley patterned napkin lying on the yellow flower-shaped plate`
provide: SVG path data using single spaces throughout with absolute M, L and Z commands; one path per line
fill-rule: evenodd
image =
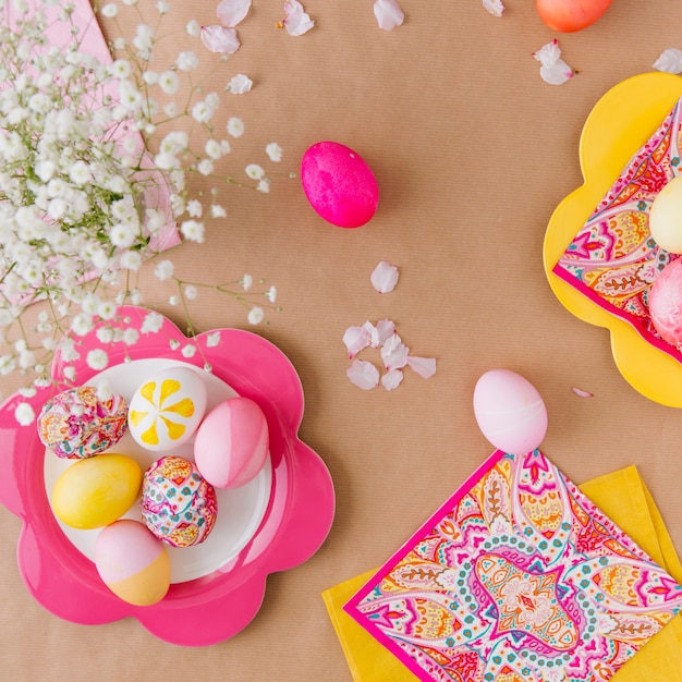
M 633 156 L 552 271 L 682 362 L 682 353 L 654 329 L 647 302 L 657 273 L 678 257 L 651 239 L 648 214 L 656 195 L 680 173 L 681 101 Z

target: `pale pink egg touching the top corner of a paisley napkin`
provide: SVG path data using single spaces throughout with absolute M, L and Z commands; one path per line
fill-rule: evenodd
M 547 433 L 543 398 L 527 379 L 510 369 L 490 369 L 478 379 L 474 414 L 483 435 L 510 454 L 535 450 Z

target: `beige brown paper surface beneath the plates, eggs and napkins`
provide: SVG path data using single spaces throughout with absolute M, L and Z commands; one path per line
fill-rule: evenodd
M 173 4 L 180 28 L 193 14 L 215 23 L 216 0 Z M 550 418 L 543 450 L 576 483 L 636 464 L 682 549 L 682 415 L 624 381 L 608 332 L 561 306 L 541 265 L 547 221 L 581 184 L 586 115 L 611 86 L 682 47 L 682 5 L 614 0 L 593 27 L 557 36 L 529 0 L 509 0 L 502 19 L 479 0 L 401 0 L 406 20 L 391 33 L 377 27 L 370 0 L 304 4 L 317 25 L 293 38 L 275 29 L 280 0 L 255 0 L 242 49 L 227 64 L 207 61 L 211 89 L 240 72 L 255 82 L 247 96 L 224 98 L 224 115 L 247 125 L 244 158 L 264 158 L 277 141 L 284 159 L 269 195 L 231 191 L 224 224 L 173 258 L 188 277 L 252 272 L 277 284 L 284 309 L 258 331 L 301 375 L 301 437 L 337 490 L 331 533 L 307 563 L 268 580 L 246 630 L 188 649 L 132 620 L 87 628 L 46 612 L 16 568 L 20 522 L 0 509 L 2 679 L 349 682 L 320 593 L 380 564 L 490 452 L 472 392 L 492 367 L 538 388 Z M 543 83 L 532 57 L 553 37 L 580 71 L 560 87 Z M 326 224 L 288 178 L 321 139 L 353 147 L 375 171 L 381 200 L 364 228 Z M 380 296 L 368 278 L 383 259 L 401 279 Z M 165 300 L 147 296 L 180 322 Z M 438 358 L 433 379 L 409 374 L 392 393 L 346 381 L 345 328 L 382 317 L 414 354 Z M 246 326 L 238 306 L 208 295 L 194 320 L 202 330 Z M 14 385 L 0 388 L 7 395 Z

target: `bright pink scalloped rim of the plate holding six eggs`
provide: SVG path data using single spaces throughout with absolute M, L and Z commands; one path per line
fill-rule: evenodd
M 124 306 L 119 316 L 125 328 L 141 330 L 147 312 Z M 207 342 L 220 334 L 217 345 Z M 215 337 L 214 337 L 215 339 Z M 82 338 L 76 383 L 98 374 L 85 356 L 102 348 L 96 331 Z M 187 358 L 187 344 L 197 352 Z M 268 574 L 292 569 L 309 559 L 325 541 L 333 521 L 334 490 L 322 460 L 297 437 L 303 418 L 301 380 L 287 356 L 264 338 L 240 329 L 219 329 L 187 339 L 163 318 L 161 329 L 142 333 L 136 344 L 106 346 L 109 365 L 151 357 L 172 358 L 203 367 L 238 393 L 256 401 L 270 431 L 272 489 L 258 531 L 227 567 L 204 577 L 171 585 L 157 605 L 135 607 L 115 597 L 101 582 L 95 564 L 84 557 L 59 527 L 44 482 L 45 448 L 35 424 L 20 426 L 16 405 L 29 403 L 35 413 L 53 392 L 62 390 L 64 363 L 56 357 L 57 386 L 26 398 L 19 393 L 0 406 L 0 466 L 8 479 L 0 503 L 22 522 L 17 559 L 22 579 L 33 597 L 64 620 L 87 625 L 133 617 L 155 636 L 183 646 L 207 646 L 241 632 L 256 616 Z

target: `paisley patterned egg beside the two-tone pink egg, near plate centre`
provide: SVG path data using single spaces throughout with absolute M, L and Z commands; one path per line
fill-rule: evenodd
M 194 462 L 174 455 L 162 456 L 145 472 L 141 506 L 149 531 L 172 547 L 203 543 L 218 513 L 214 486 Z

